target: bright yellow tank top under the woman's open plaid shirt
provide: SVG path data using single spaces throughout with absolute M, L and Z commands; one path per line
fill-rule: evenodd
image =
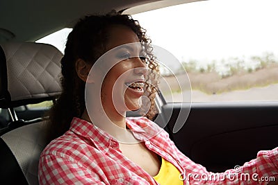
M 176 166 L 172 165 L 169 161 L 166 161 L 161 157 L 161 169 L 158 174 L 154 176 L 156 182 L 161 185 L 171 184 L 171 185 L 182 185 L 183 181 L 179 179 L 179 170 Z

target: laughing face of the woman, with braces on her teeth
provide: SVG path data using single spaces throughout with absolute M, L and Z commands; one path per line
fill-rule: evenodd
M 144 60 L 140 60 L 144 51 L 138 42 L 131 28 L 115 25 L 109 30 L 106 51 L 110 52 L 109 60 L 117 62 L 101 86 L 101 103 L 108 111 L 124 114 L 140 108 L 147 66 Z

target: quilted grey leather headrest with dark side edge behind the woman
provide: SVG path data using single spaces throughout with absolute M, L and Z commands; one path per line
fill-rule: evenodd
M 60 59 L 54 46 L 33 42 L 0 45 L 0 107 L 17 107 L 56 98 Z

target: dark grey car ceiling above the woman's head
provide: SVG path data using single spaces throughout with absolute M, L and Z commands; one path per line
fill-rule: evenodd
M 196 0 L 1 0 L 0 42 L 33 42 L 56 30 L 72 27 L 83 15 L 129 8 L 127 12 L 138 13 L 191 1 Z M 134 8 L 139 5 L 145 6 Z

